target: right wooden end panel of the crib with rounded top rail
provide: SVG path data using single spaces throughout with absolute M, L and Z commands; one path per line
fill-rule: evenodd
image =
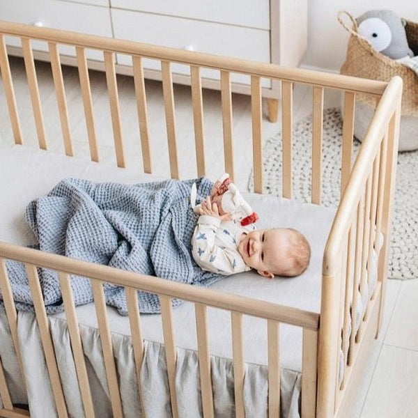
M 318 355 L 320 417 L 345 416 L 343 410 L 355 390 L 371 335 L 378 333 L 376 324 L 387 279 L 401 88 L 401 79 L 389 83 L 353 167 L 348 160 L 343 164 L 343 197 L 323 260 Z M 353 95 L 346 98 L 349 117 L 353 114 L 353 99 Z M 351 132 L 351 122 L 346 129 Z

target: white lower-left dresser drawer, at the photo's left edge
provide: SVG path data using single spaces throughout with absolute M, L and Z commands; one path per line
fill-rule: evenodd
M 66 31 L 112 36 L 109 8 L 70 1 L 2 0 L 0 19 Z M 17 38 L 7 37 L 6 42 L 8 45 L 20 47 L 20 40 Z M 34 50 L 48 50 L 46 42 L 33 41 L 31 45 Z M 60 52 L 65 55 L 75 55 L 75 49 L 65 45 L 60 46 Z M 89 50 L 87 56 L 90 59 L 103 60 L 101 52 Z

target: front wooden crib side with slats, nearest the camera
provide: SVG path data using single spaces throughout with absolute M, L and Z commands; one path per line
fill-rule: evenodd
M 155 277 L 146 277 L 141 274 L 127 272 L 124 270 L 115 270 L 107 266 L 95 265 L 82 261 L 68 260 L 65 257 L 47 254 L 33 249 L 22 249 L 13 245 L 0 243 L 0 253 L 5 254 L 7 259 L 18 258 L 26 265 L 26 271 L 29 277 L 31 293 L 35 304 L 36 319 L 40 329 L 40 338 L 42 348 L 45 354 L 47 372 L 52 382 L 52 392 L 58 415 L 68 416 L 69 405 L 66 405 L 63 397 L 63 387 L 61 386 L 61 376 L 57 365 L 57 359 L 54 352 L 54 342 L 49 330 L 49 321 L 45 313 L 45 307 L 42 304 L 42 293 L 38 279 L 38 268 L 48 268 L 56 270 L 59 277 L 61 292 L 63 295 L 63 304 L 65 314 L 68 320 L 68 332 L 70 344 L 72 347 L 72 356 L 75 362 L 77 380 L 82 404 L 86 417 L 94 417 L 94 399 L 90 387 L 88 375 L 86 373 L 86 362 L 84 359 L 84 348 L 80 339 L 79 323 L 75 311 L 75 302 L 72 297 L 72 288 L 70 278 L 72 275 L 90 278 L 93 289 L 93 300 L 97 314 L 98 330 L 100 334 L 100 345 L 103 356 L 104 370 L 106 374 L 107 387 L 111 409 L 115 417 L 123 415 L 123 405 L 121 403 L 121 387 L 118 381 L 118 371 L 114 359 L 113 346 L 111 342 L 111 332 L 109 330 L 109 320 L 104 301 L 103 286 L 106 283 L 125 286 L 128 304 L 128 315 L 130 318 L 130 327 L 132 334 L 132 348 L 134 351 L 134 362 L 137 370 L 138 387 L 141 391 L 141 380 L 139 379 L 141 365 L 144 358 L 144 342 L 142 341 L 141 318 L 139 316 L 139 305 L 137 300 L 137 291 L 147 291 L 156 293 L 160 298 L 162 309 L 162 329 L 164 334 L 164 349 L 167 363 L 167 379 L 169 382 L 169 395 L 171 399 L 171 411 L 173 417 L 178 416 L 178 401 L 176 394 L 176 338 L 175 324 L 173 323 L 173 313 L 171 302 L 173 298 L 181 298 L 194 302 L 196 311 L 196 336 L 199 358 L 199 371 L 201 381 L 201 398 L 203 406 L 203 416 L 213 417 L 215 410 L 213 404 L 213 392 L 211 382 L 210 365 L 210 341 L 208 339 L 208 318 L 207 308 L 215 307 L 225 309 L 231 314 L 231 341 L 233 352 L 233 380 L 234 380 L 234 398 L 235 398 L 235 416 L 245 417 L 245 347 L 244 347 L 244 328 L 243 319 L 245 316 L 256 316 L 266 320 L 267 327 L 265 332 L 268 340 L 268 403 L 269 417 L 277 417 L 280 410 L 280 345 L 279 345 L 279 324 L 288 323 L 297 327 L 302 327 L 303 332 L 303 369 L 302 369 L 302 416 L 305 418 L 314 417 L 316 405 L 316 349 L 318 346 L 318 326 L 319 316 L 307 311 L 281 307 L 270 302 L 260 300 L 251 300 L 247 297 L 238 295 L 228 295 L 217 293 L 207 288 L 195 288 L 194 286 L 180 285 L 158 279 Z M 10 283 L 8 281 L 5 268 L 5 259 L 1 258 L 1 291 L 3 295 L 8 295 Z M 61 261 L 61 263 L 60 263 Z M 63 262 L 63 263 L 62 263 Z M 109 279 L 111 277 L 111 279 Z M 15 327 L 15 305 L 13 297 L 5 298 L 11 314 L 9 315 L 9 325 L 12 330 Z M 19 353 L 19 342 L 15 346 Z M 3 410 L 0 410 L 0 416 L 19 417 L 20 410 L 17 410 L 8 394 L 6 379 L 3 377 L 3 369 L 0 363 L 0 395 L 3 398 Z M 24 370 L 22 369 L 24 376 Z M 141 396 L 139 396 L 141 398 Z M 14 415 L 13 415 L 14 414 Z M 23 415 L 22 415 L 23 416 Z

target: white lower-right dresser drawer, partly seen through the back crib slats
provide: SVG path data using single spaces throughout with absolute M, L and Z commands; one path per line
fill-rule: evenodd
M 153 45 L 189 49 L 258 62 L 270 62 L 270 31 L 213 22 L 182 19 L 149 13 L 112 9 L 115 38 Z M 119 55 L 118 63 L 132 65 L 129 56 Z M 160 63 L 144 59 L 144 68 L 160 70 Z M 189 74 L 186 65 L 172 65 L 178 74 Z M 219 79 L 219 71 L 202 70 L 202 77 Z M 233 82 L 249 83 L 249 77 L 234 74 Z

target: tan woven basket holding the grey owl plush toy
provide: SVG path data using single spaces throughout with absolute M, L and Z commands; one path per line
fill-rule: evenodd
M 353 28 L 343 22 L 346 15 L 353 22 Z M 418 116 L 418 76 L 415 71 L 405 65 L 380 54 L 371 44 L 358 33 L 357 22 L 348 12 L 340 12 L 338 16 L 340 24 L 350 34 L 348 40 L 346 61 L 341 67 L 341 74 L 363 77 L 368 79 L 388 82 L 395 75 L 403 79 L 402 111 L 405 116 Z M 408 45 L 415 55 L 418 55 L 418 23 L 406 20 L 405 26 Z M 367 104 L 375 105 L 375 99 L 371 95 L 359 95 L 359 100 Z

